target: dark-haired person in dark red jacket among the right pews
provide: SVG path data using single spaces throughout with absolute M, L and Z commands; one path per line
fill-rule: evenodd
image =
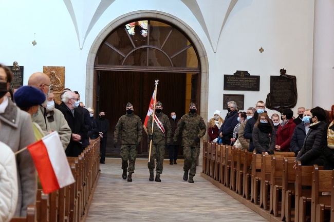
M 276 132 L 276 146 L 275 151 L 289 152 L 291 137 L 296 125 L 293 123 L 293 111 L 291 109 L 285 109 L 281 113 L 282 123 L 279 125 L 279 129 Z

